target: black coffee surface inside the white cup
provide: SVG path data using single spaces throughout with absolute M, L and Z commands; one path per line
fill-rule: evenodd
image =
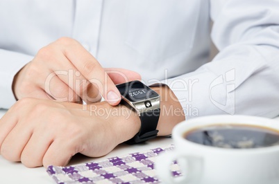
M 185 133 L 185 139 L 201 145 L 233 149 L 279 145 L 279 131 L 250 125 L 211 125 Z

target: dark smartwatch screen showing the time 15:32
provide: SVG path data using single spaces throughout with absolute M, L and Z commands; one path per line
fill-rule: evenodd
M 122 96 L 130 102 L 138 102 L 149 98 L 158 97 L 158 93 L 144 85 L 140 81 L 132 81 L 117 85 L 117 88 Z

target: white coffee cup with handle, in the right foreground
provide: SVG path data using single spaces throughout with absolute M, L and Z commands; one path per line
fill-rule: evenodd
M 257 125 L 279 131 L 279 122 L 254 116 L 204 116 L 180 122 L 174 127 L 174 151 L 158 156 L 155 170 L 162 183 L 278 184 L 279 145 L 249 149 L 201 145 L 184 138 L 187 131 L 208 125 Z M 174 178 L 174 160 L 183 176 Z

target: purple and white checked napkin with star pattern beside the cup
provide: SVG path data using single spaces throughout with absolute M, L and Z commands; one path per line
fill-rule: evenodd
M 160 183 L 155 176 L 154 160 L 163 151 L 174 146 L 158 147 L 125 156 L 108 158 L 99 162 L 68 167 L 49 166 L 47 172 L 58 184 L 70 183 Z M 171 165 L 174 176 L 180 176 L 177 163 Z

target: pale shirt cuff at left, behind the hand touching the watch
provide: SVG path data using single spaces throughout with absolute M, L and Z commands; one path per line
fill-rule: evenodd
M 0 109 L 9 109 L 16 102 L 12 81 L 17 72 L 32 59 L 31 55 L 0 49 Z

